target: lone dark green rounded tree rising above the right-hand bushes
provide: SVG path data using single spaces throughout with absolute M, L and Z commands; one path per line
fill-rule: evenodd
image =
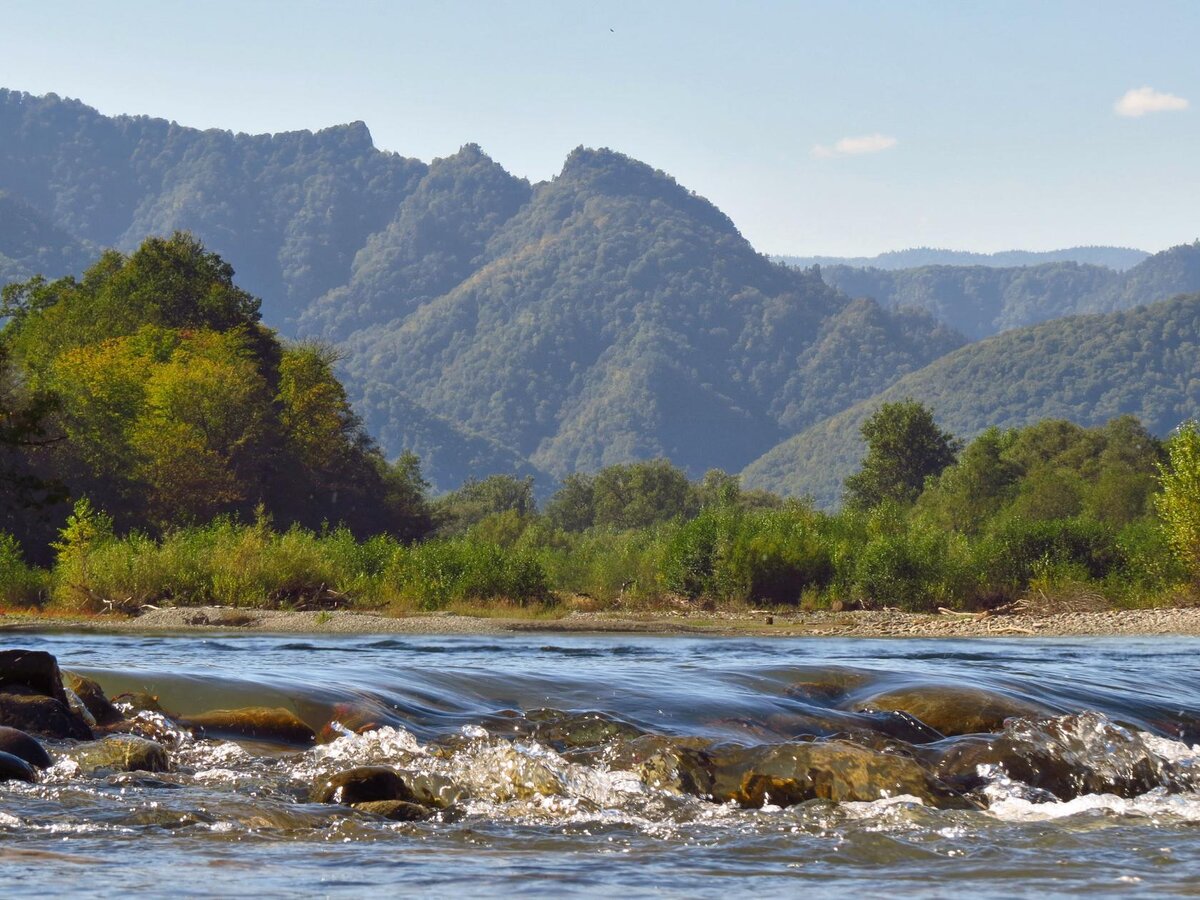
M 961 446 L 937 427 L 926 407 L 912 400 L 881 406 L 863 422 L 863 467 L 846 479 L 847 503 L 862 509 L 914 502 L 925 479 L 950 466 Z

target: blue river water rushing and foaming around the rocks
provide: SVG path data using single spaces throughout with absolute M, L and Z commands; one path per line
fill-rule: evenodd
M 0 785 L 8 896 L 1200 894 L 1198 640 L 7 637 L 109 696 L 157 696 L 170 719 L 139 715 L 172 760 L 89 776 L 60 756 L 40 784 Z M 678 755 L 629 762 L 647 733 L 726 757 L 848 740 L 948 778 L 938 761 L 982 739 L 872 697 L 962 689 L 1038 710 L 992 727 L 1033 761 L 1026 781 L 979 764 L 958 772 L 961 803 L 768 790 L 744 808 L 689 790 Z M 172 724 L 252 706 L 320 743 Z M 310 802 L 362 764 L 425 779 L 445 809 L 395 822 Z

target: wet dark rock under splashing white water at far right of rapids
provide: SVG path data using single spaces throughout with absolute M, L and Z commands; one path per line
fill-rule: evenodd
M 1195 787 L 1138 733 L 1094 713 L 1013 720 L 998 734 L 955 738 L 931 749 L 935 774 L 960 791 L 978 790 L 997 776 L 1061 800 L 1088 793 L 1138 797 L 1156 787 Z

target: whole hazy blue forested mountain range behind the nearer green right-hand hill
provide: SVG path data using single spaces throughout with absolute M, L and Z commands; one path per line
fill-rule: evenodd
M 1195 245 L 818 274 L 612 150 L 580 148 L 530 185 L 475 145 L 430 163 L 380 151 L 361 122 L 234 134 L 0 90 L 0 280 L 78 272 L 175 229 L 230 262 L 281 334 L 340 344 L 371 433 L 416 451 L 439 490 L 503 472 L 545 491 L 653 456 L 808 490 L 811 473 L 785 472 L 805 458 L 790 438 L 931 371 L 964 335 L 1200 290 Z M 970 422 L 1008 421 L 976 406 Z

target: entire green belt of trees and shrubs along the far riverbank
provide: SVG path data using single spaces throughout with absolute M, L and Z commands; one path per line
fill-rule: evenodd
M 194 239 L 4 293 L 0 604 L 396 612 L 994 610 L 1192 602 L 1200 431 L 1048 420 L 965 446 L 884 403 L 838 512 L 666 460 L 439 498 L 386 462 L 319 344 Z

